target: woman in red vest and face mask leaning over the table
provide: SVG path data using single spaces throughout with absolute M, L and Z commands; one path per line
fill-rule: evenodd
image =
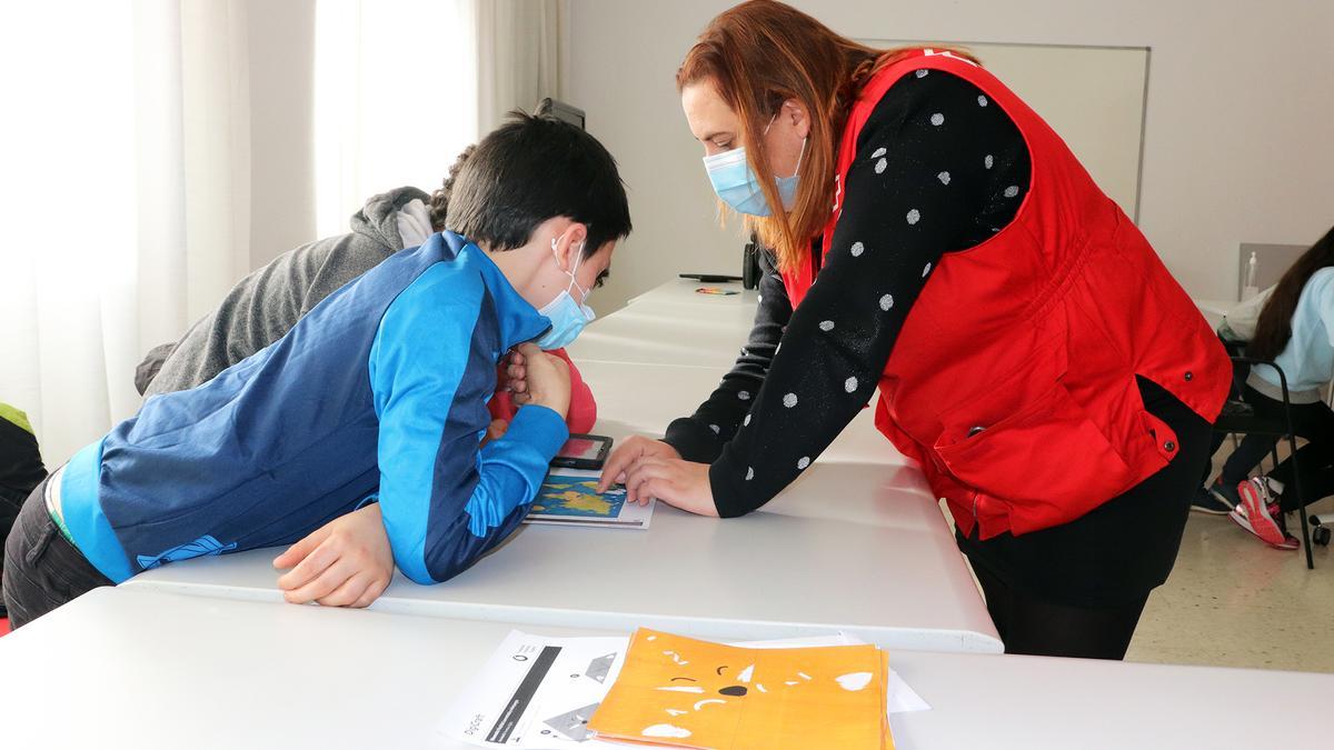
M 958 51 L 872 49 L 755 0 L 676 83 L 715 191 L 774 252 L 732 372 L 603 482 L 750 512 L 879 386 L 876 426 L 947 500 L 1006 649 L 1122 658 L 1230 374 L 1143 235 Z

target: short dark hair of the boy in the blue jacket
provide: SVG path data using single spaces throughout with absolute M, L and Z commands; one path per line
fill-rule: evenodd
M 556 216 L 588 227 L 586 255 L 631 230 L 616 160 L 598 139 L 552 117 L 511 112 L 447 187 L 446 227 L 491 250 L 523 247 Z

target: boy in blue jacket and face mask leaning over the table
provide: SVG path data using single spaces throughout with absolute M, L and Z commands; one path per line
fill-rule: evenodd
M 459 171 L 446 226 L 273 344 L 149 398 L 35 488 L 5 544 L 13 626 L 164 563 L 291 544 L 370 502 L 418 583 L 508 536 L 568 436 L 568 372 L 542 350 L 592 318 L 587 290 L 630 232 L 626 192 L 592 136 L 519 113 Z M 483 446 L 515 347 L 520 406 Z M 343 574 L 334 594 L 379 595 Z

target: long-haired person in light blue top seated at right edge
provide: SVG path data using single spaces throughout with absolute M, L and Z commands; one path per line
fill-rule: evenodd
M 1334 411 L 1322 396 L 1334 379 L 1334 230 L 1279 279 L 1263 303 L 1246 354 L 1273 360 L 1287 378 L 1293 430 L 1307 440 L 1297 451 L 1297 479 L 1306 502 L 1334 495 Z M 1283 391 L 1273 367 L 1251 367 L 1242 398 L 1257 416 L 1283 416 Z M 1273 547 L 1295 550 L 1299 544 L 1282 515 L 1297 510 L 1297 492 L 1290 491 L 1295 490 L 1293 459 L 1281 462 L 1269 476 L 1247 478 L 1274 440 L 1247 435 L 1210 491 L 1234 506 L 1229 515 L 1238 526 Z

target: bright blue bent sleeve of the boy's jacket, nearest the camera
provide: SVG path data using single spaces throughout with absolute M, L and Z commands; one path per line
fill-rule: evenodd
M 498 332 L 484 287 L 459 290 L 428 270 L 386 311 L 371 348 L 380 419 L 380 508 L 399 570 L 448 581 L 508 536 L 528 512 L 570 432 L 526 406 L 480 447 L 495 390 Z

